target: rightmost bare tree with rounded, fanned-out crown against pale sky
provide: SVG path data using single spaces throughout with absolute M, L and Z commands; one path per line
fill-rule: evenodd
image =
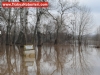
M 78 39 L 78 44 L 82 44 L 82 37 L 89 33 L 89 29 L 92 27 L 92 16 L 90 9 L 86 6 L 78 6 L 73 9 L 73 16 L 70 21 L 70 28 L 73 34 L 73 40 Z

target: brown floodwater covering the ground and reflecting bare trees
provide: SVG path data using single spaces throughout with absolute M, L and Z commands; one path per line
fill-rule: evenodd
M 29 66 L 23 53 L 19 46 L 1 46 L 0 75 L 100 75 L 100 49 L 93 46 L 36 47 Z

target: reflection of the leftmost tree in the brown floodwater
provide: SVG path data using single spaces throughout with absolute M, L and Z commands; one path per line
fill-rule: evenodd
M 2 66 L 1 70 L 1 74 L 0 75 L 13 75 L 15 73 L 16 70 L 15 67 L 16 65 L 14 64 L 14 61 L 12 61 L 12 59 L 14 59 L 13 55 L 12 55 L 12 47 L 11 46 L 4 46 L 5 48 L 2 49 L 2 51 L 4 51 L 4 54 L 2 55 L 2 60 L 0 63 L 0 66 Z

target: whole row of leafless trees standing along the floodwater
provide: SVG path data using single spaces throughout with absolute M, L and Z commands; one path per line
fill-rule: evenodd
M 15 1 L 23 2 L 22 0 Z M 43 1 L 49 2 L 48 8 L 0 9 L 2 43 L 35 44 L 37 42 L 39 46 L 51 41 L 54 44 L 62 41 L 69 42 L 69 40 L 75 43 L 75 36 L 77 36 L 78 43 L 81 44 L 82 36 L 88 32 L 91 26 L 89 8 L 80 6 L 77 1 Z

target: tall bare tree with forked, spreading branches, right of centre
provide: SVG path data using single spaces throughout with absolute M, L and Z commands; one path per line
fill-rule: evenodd
M 58 43 L 58 37 L 59 37 L 59 32 L 64 31 L 66 28 L 66 22 L 65 20 L 68 19 L 67 15 L 68 12 L 77 6 L 77 2 L 69 2 L 69 1 L 62 1 L 59 0 L 58 1 L 58 7 L 59 9 L 57 9 L 57 17 L 54 17 L 54 15 L 52 15 L 49 11 L 48 14 L 53 18 L 53 20 L 55 21 L 55 33 L 56 33 L 56 37 L 55 37 L 55 44 Z

